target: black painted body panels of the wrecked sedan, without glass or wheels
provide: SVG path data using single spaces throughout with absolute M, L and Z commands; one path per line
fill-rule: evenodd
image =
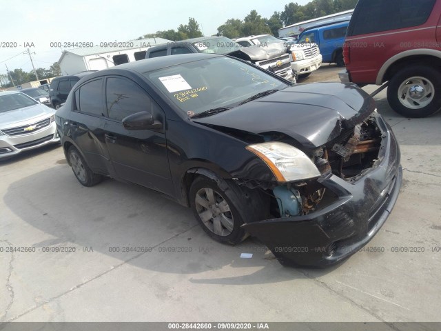
M 214 56 L 161 57 L 101 70 L 81 79 L 73 90 L 90 79 L 106 75 L 122 76 L 138 83 L 163 110 L 163 117 L 156 118 L 163 123 L 163 128 L 128 131 L 119 121 L 81 114 L 72 109 L 71 93 L 66 105 L 56 115 L 66 158 L 68 147 L 76 146 L 94 172 L 143 185 L 182 205 L 189 205 L 187 179 L 197 172 L 216 179 L 218 183 L 225 180 L 276 183 L 267 165 L 245 149 L 249 145 L 245 139 L 247 134 L 260 137 L 269 131 L 283 132 L 307 152 L 334 139 L 345 127 L 360 123 L 375 109 L 362 90 L 340 83 L 324 83 L 288 87 L 232 110 L 192 120 L 167 101 L 140 73 Z M 315 91 L 320 89 L 326 94 Z M 379 115 L 376 118 L 384 130 L 381 164 L 355 184 L 334 175 L 318 179 L 338 196 L 333 205 L 305 217 L 247 221 L 243 225 L 245 230 L 262 240 L 281 262 L 296 265 L 336 263 L 353 254 L 354 250 L 346 252 L 345 247 L 349 245 L 355 249 L 364 245 L 384 223 L 401 185 L 400 152 L 389 128 Z M 121 143 L 116 145 L 115 141 Z M 134 155 L 139 160 L 134 161 Z M 118 159 L 112 160 L 116 156 Z M 391 192 L 382 192 L 393 177 L 395 185 Z M 376 197 L 381 197 L 382 193 L 387 199 L 383 205 L 378 205 L 380 215 L 375 217 L 375 231 L 367 234 L 366 215 Z M 338 213 L 349 215 L 350 219 L 343 218 L 340 227 L 334 228 L 330 220 L 334 220 Z M 356 232 L 361 237 L 351 237 Z M 338 246 L 336 254 L 329 258 L 325 252 L 312 249 L 303 254 L 283 251 L 307 244 L 311 248 L 311 243 L 328 249 L 331 243 L 341 240 L 347 246 Z M 277 247 L 285 248 L 278 252 Z

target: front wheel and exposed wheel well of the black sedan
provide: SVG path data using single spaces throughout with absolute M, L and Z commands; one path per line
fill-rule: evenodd
M 190 206 L 209 237 L 235 245 L 248 236 L 240 226 L 266 217 L 269 201 L 265 203 L 256 190 L 239 188 L 228 181 L 221 183 L 222 188 L 212 179 L 196 177 L 189 190 Z

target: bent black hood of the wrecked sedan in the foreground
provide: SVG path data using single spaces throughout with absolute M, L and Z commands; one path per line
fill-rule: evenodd
M 254 134 L 281 132 L 311 149 L 361 123 L 375 109 L 369 94 L 352 84 L 311 83 L 285 88 L 194 121 Z

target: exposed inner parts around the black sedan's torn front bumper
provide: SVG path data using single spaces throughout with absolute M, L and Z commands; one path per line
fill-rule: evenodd
M 332 173 L 350 183 L 355 182 L 380 161 L 381 141 L 382 134 L 375 119 L 370 117 L 315 150 L 312 159 L 322 175 Z M 336 199 L 333 192 L 316 180 L 288 183 L 272 192 L 277 203 L 271 203 L 271 214 L 278 217 L 307 215 Z

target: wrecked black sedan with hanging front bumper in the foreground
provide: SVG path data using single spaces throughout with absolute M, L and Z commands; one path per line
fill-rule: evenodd
M 172 197 L 210 237 L 257 237 L 283 264 L 342 261 L 378 232 L 402 182 L 371 97 L 294 85 L 232 57 L 183 54 L 81 79 L 56 115 L 85 186 L 112 177 Z

